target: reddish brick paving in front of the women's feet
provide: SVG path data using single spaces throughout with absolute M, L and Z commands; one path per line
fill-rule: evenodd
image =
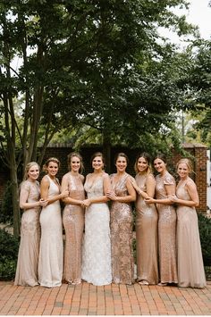
M 63 284 L 60 288 L 16 287 L 0 282 L 0 315 L 211 315 L 207 288 Z

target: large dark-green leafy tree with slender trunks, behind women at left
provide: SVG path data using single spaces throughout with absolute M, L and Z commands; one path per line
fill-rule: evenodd
M 157 105 L 165 103 L 166 110 L 173 104 L 167 96 L 173 89 L 166 89 L 163 80 L 175 86 L 165 73 L 159 77 L 156 60 L 163 50 L 166 60 L 173 47 L 158 45 L 156 29 L 173 26 L 180 34 L 189 32 L 192 28 L 184 17 L 170 10 L 186 4 L 185 0 L 1 0 L 1 149 L 13 184 L 15 235 L 20 228 L 20 164 L 24 168 L 32 160 L 41 163 L 55 132 L 89 124 L 100 130 L 109 146 L 125 131 L 129 142 L 143 122 L 142 130 L 149 127 L 148 118 L 152 131 L 153 125 L 162 125 L 163 112 L 159 109 L 156 114 Z M 17 56 L 21 65 L 15 70 Z M 158 91 L 163 96 L 157 98 Z

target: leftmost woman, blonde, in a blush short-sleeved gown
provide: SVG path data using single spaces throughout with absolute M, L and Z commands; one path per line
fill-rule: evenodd
M 20 207 L 23 209 L 21 243 L 14 285 L 31 287 L 38 285 L 39 214 L 41 206 L 47 203 L 40 199 L 38 176 L 38 163 L 28 163 L 24 180 L 21 182 Z

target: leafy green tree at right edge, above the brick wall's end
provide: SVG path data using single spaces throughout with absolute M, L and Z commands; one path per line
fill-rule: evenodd
M 194 41 L 189 51 L 190 69 L 183 78 L 184 85 L 189 87 L 187 104 L 190 105 L 191 118 L 195 121 L 189 136 L 211 146 L 211 41 Z

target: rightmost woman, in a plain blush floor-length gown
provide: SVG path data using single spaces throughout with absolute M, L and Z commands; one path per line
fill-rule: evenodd
M 177 164 L 180 181 L 176 196 L 171 196 L 178 206 L 177 213 L 177 263 L 178 285 L 181 288 L 204 288 L 206 277 L 198 232 L 198 190 L 190 179 L 191 164 L 184 158 Z

